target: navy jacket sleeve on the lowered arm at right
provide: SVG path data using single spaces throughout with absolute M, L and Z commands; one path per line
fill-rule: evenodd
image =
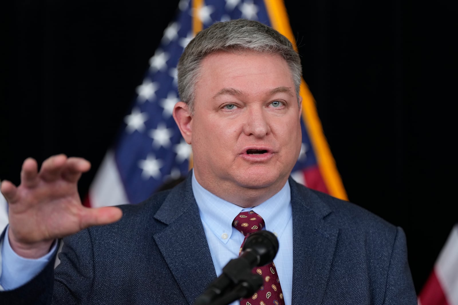
M 384 305 L 417 305 L 414 282 L 407 260 L 407 245 L 403 230 L 398 227 L 388 268 Z

